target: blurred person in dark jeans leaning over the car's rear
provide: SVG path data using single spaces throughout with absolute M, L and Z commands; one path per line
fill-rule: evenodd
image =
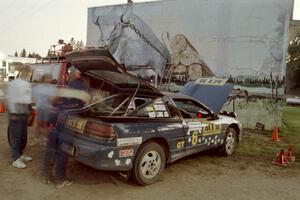
M 87 91 L 87 85 L 84 80 L 81 79 L 81 73 L 77 69 L 71 69 L 69 74 L 69 84 L 70 90 L 69 92 L 75 93 L 76 90 L 84 90 Z M 74 90 L 76 89 L 76 90 Z M 65 92 L 65 90 L 62 90 Z M 58 93 L 63 96 L 62 93 Z M 77 91 L 78 92 L 78 91 Z M 76 95 L 74 95 L 76 96 Z M 68 109 L 76 109 L 81 108 L 85 104 L 84 101 L 76 98 L 61 98 L 57 107 L 57 113 L 52 113 L 52 116 L 49 118 L 49 123 L 52 124 L 52 128 L 48 133 L 48 142 L 45 150 L 44 156 L 44 167 L 43 167 L 43 176 L 44 183 L 48 184 L 51 182 L 51 172 L 53 161 L 55 160 L 55 179 L 56 179 L 56 188 L 61 188 L 64 186 L 69 186 L 73 183 L 73 181 L 68 180 L 66 178 L 66 167 L 68 163 L 68 155 L 62 151 L 62 143 L 59 138 L 60 133 L 57 130 L 56 122 L 57 117 L 64 112 L 64 110 Z

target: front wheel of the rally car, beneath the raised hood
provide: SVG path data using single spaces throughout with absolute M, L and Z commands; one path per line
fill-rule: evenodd
M 221 147 L 221 154 L 231 156 L 237 147 L 237 132 L 234 128 L 228 128 L 226 131 L 225 141 Z

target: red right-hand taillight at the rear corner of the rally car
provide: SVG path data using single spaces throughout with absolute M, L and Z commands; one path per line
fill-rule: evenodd
M 112 126 L 90 121 L 86 123 L 85 134 L 103 139 L 115 139 L 117 137 Z

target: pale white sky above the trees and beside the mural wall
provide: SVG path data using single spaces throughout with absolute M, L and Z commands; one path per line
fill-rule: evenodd
M 133 0 L 144 2 L 149 0 Z M 153 1 L 153 0 L 152 0 Z M 300 20 L 300 0 L 294 0 L 295 20 Z M 47 54 L 58 39 L 86 42 L 89 7 L 127 3 L 127 0 L 0 0 L 0 52 Z

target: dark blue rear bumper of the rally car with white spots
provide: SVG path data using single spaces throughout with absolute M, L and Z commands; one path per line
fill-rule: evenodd
M 99 144 L 73 133 L 60 133 L 60 139 L 63 152 L 90 167 L 106 171 L 128 171 L 132 168 L 133 155 L 120 154 L 120 151 L 124 152 L 128 147 Z M 132 154 L 136 152 L 134 147 L 130 148 Z

